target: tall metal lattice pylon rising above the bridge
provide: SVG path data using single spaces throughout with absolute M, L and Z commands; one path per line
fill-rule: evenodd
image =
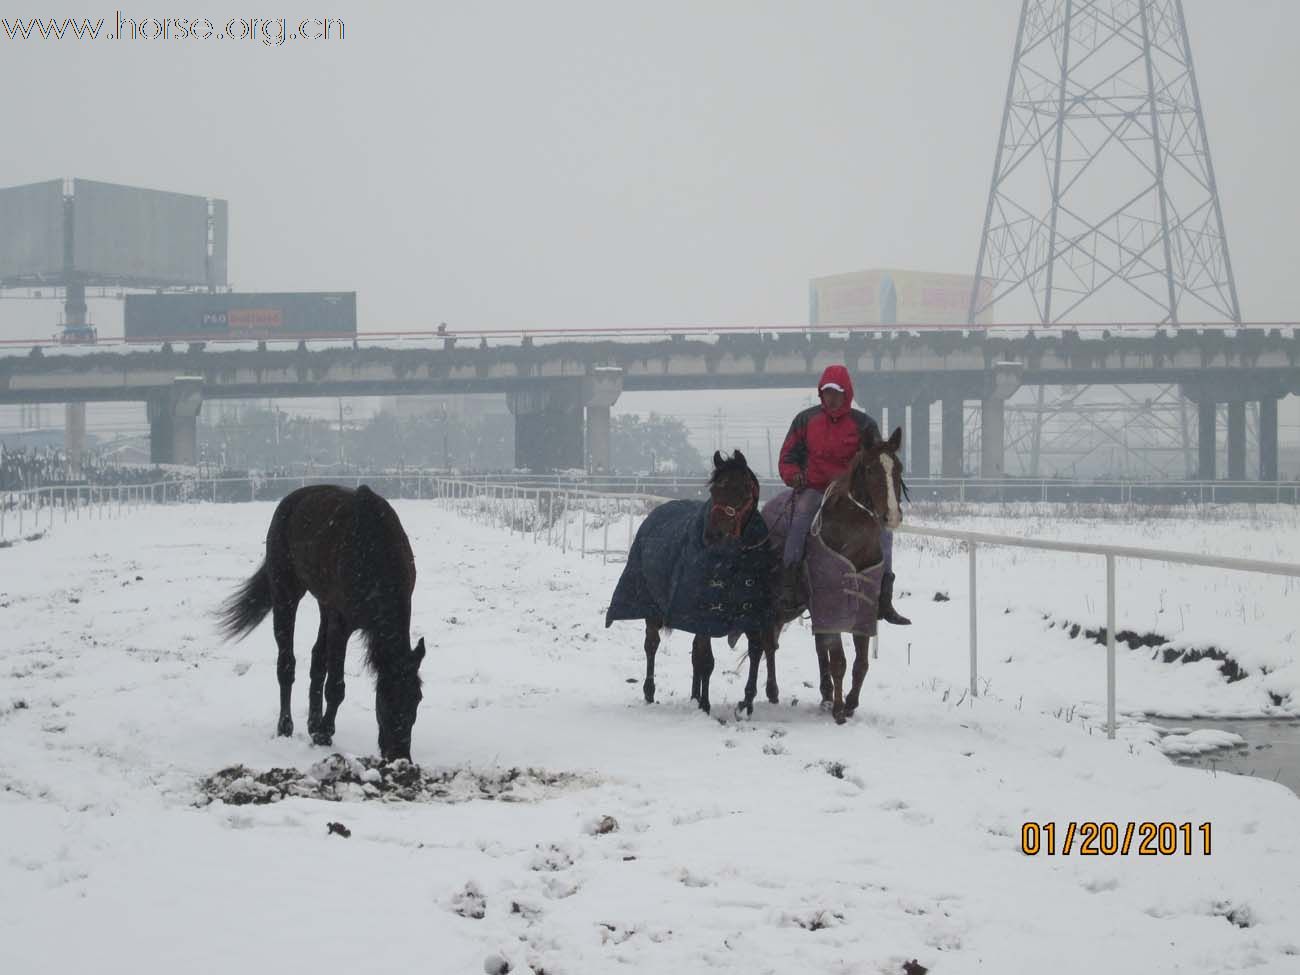
M 1026 292 L 1043 324 L 1242 320 L 1182 0 L 1023 0 L 970 321 Z

